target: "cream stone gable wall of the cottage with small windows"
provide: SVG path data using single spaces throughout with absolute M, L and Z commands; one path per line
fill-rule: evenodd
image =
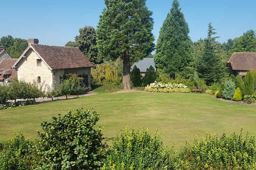
M 33 82 L 38 77 L 41 79 L 41 83 L 45 81 L 45 84 L 52 85 L 53 73 L 48 66 L 41 61 L 41 66 L 37 66 L 37 59 L 40 59 L 36 52 L 32 49 L 26 54 L 26 58 L 23 58 L 18 64 L 18 79 L 23 79 L 26 82 Z

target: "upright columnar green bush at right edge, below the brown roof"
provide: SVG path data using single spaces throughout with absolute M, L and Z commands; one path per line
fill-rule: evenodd
M 254 77 L 252 71 L 248 71 L 244 77 L 244 89 L 243 95 L 253 95 L 254 94 Z

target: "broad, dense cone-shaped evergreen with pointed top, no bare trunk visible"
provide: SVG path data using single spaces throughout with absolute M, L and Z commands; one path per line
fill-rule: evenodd
M 191 60 L 191 39 L 189 28 L 178 0 L 173 0 L 172 8 L 159 31 L 154 62 L 171 77 L 181 71 Z

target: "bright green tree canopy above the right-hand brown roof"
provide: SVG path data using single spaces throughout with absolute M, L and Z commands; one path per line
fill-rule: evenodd
M 256 52 L 255 31 L 248 30 L 241 37 L 235 38 L 233 52 Z

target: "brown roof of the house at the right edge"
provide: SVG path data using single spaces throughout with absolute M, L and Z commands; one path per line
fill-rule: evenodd
M 227 59 L 227 66 L 233 70 L 250 70 L 256 69 L 256 53 L 255 52 L 234 52 Z

